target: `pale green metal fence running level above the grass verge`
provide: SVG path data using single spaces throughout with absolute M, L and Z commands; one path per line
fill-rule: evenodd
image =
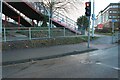
M 2 29 L 2 41 L 46 39 L 57 37 L 79 36 L 66 28 L 48 28 L 48 27 L 4 27 Z

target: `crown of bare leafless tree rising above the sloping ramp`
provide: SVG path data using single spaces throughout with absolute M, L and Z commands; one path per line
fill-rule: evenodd
M 44 6 L 50 12 L 50 17 L 56 11 L 69 12 L 69 9 L 76 9 L 76 4 L 81 4 L 79 0 L 43 0 Z

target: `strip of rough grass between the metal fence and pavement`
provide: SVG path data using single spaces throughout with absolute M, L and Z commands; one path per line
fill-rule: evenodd
M 97 38 L 98 37 L 95 37 L 94 39 Z M 87 39 L 88 39 L 87 36 L 81 36 L 81 37 L 49 38 L 43 40 L 9 41 L 2 43 L 2 50 L 7 51 L 26 48 L 48 47 L 55 45 L 77 44 L 87 42 Z

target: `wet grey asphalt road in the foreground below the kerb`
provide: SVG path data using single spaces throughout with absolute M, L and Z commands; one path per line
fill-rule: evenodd
M 3 77 L 118 78 L 119 70 L 118 45 L 116 45 L 85 54 L 3 66 Z

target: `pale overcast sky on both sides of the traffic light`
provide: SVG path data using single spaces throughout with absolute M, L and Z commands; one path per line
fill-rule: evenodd
M 76 4 L 77 10 L 70 10 L 68 17 L 73 20 L 77 20 L 78 17 L 84 15 L 85 13 L 85 2 L 89 0 L 82 0 L 83 4 Z M 91 0 L 93 1 L 93 0 Z M 101 10 L 105 9 L 110 3 L 118 3 L 120 0 L 95 0 L 95 15 L 97 15 Z

